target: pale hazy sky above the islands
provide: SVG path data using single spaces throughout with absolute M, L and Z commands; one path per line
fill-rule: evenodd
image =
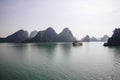
M 78 39 L 111 35 L 120 26 L 120 0 L 0 0 L 0 36 L 68 27 Z

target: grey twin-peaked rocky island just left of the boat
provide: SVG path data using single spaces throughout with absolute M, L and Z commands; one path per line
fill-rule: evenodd
M 68 28 L 57 34 L 54 29 L 49 27 L 44 31 L 39 31 L 30 42 L 72 42 L 74 40 L 75 38 Z

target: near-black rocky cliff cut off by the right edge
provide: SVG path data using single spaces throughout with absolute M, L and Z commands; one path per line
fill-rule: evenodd
M 110 37 L 107 43 L 104 43 L 104 46 L 120 46 L 120 28 L 116 28 L 113 31 L 112 37 Z

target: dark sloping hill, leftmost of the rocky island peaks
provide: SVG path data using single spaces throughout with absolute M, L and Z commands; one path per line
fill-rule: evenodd
M 12 35 L 6 37 L 4 42 L 21 42 L 28 39 L 28 32 L 24 30 L 19 30 Z

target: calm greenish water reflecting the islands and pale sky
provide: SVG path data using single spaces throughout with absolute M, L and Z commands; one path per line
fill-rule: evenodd
M 1 43 L 0 80 L 120 80 L 120 47 Z

